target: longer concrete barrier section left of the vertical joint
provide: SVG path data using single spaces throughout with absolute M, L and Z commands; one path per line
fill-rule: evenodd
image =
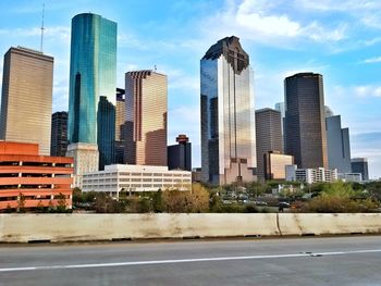
M 279 235 L 276 214 L 1 214 L 0 241 Z

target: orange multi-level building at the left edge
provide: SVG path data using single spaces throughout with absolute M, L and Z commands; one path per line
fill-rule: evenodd
M 38 151 L 38 144 L 0 141 L 0 211 L 56 207 L 60 194 L 72 208 L 73 159 Z

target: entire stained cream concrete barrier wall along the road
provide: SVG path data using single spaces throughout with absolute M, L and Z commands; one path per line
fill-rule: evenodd
M 381 233 L 381 214 L 0 214 L 0 243 Z

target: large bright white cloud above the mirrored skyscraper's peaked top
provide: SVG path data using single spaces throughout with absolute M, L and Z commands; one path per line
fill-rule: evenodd
M 226 3 L 221 12 L 202 21 L 209 38 L 237 35 L 248 40 L 276 46 L 284 42 L 296 46 L 295 40 L 328 43 L 346 38 L 347 27 L 344 24 L 324 26 L 318 21 L 299 22 L 285 13 L 276 12 L 274 3 L 258 0 Z

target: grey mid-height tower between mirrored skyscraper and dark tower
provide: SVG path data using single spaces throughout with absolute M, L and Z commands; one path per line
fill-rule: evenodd
M 269 151 L 282 152 L 282 116 L 273 109 L 256 110 L 257 176 L 263 182 L 266 176 L 265 154 Z

